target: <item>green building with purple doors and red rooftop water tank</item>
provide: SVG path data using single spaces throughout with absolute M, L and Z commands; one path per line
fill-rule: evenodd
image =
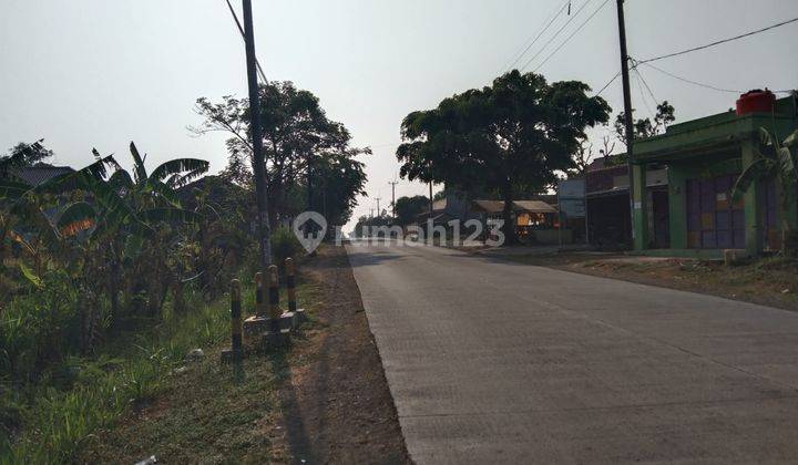
M 759 255 L 780 247 L 781 221 L 798 227 L 796 193 L 787 193 L 791 207 L 786 218 L 780 217 L 780 186 L 774 182 L 756 183 L 738 202 L 732 198 L 737 176 L 756 154 L 759 128 L 784 140 L 798 127 L 795 94 L 770 107 L 768 112 L 738 108 L 676 124 L 665 134 L 635 143 L 636 251 L 657 254 L 656 245 L 666 247 L 663 254 L 668 255 L 712 256 L 725 249 Z M 652 169 L 667 172 L 664 199 L 653 198 L 646 187 L 646 173 Z

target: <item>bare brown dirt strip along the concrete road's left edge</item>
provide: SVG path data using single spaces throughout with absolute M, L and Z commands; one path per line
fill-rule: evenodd
M 319 329 L 295 344 L 278 391 L 288 455 L 296 463 L 410 463 L 346 250 L 323 247 L 303 272 L 320 287 L 321 304 Z

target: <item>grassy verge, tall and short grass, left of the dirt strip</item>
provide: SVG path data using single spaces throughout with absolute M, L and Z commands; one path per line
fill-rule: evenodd
M 297 289 L 305 308 L 314 289 Z M 247 286 L 245 310 L 253 302 Z M 35 385 L 0 385 L 0 463 L 273 459 L 264 432 L 279 412 L 276 371 L 287 365 L 275 370 L 256 358 L 243 373 L 221 366 L 219 352 L 229 344 L 228 298 L 193 307 L 120 335 L 98 356 L 69 358 Z M 197 348 L 205 358 L 187 362 Z

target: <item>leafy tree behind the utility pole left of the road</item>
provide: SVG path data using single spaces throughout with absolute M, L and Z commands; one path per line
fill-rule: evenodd
M 221 131 L 231 135 L 227 140 L 229 165 L 224 176 L 244 186 L 252 178 L 246 163 L 252 158 L 248 108 L 247 99 L 225 96 L 222 102 L 200 99 L 196 112 L 205 121 L 201 126 L 192 128 L 198 134 Z M 318 97 L 311 92 L 296 89 L 290 82 L 262 84 L 260 120 L 272 223 L 276 224 L 280 215 L 290 214 L 289 196 L 296 194 L 297 186 L 303 183 L 314 187 L 306 190 L 313 197 L 308 198 L 311 205 L 318 203 L 316 196 L 317 193 L 323 194 L 319 189 L 325 183 L 328 186 L 348 186 L 350 190 L 345 195 L 327 198 L 328 207 L 336 214 L 350 209 L 350 198 L 362 189 L 362 183 L 356 179 L 362 174 L 361 165 L 357 165 L 354 158 L 370 151 L 351 146 L 349 132 L 342 124 L 327 117 Z M 328 166 L 340 167 L 345 159 L 348 161 L 345 167 L 352 168 L 347 172 L 352 176 L 346 182 L 319 178 Z M 358 170 L 360 174 L 356 173 Z

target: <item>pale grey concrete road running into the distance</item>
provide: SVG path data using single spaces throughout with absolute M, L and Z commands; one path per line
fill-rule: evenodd
M 798 313 L 348 246 L 411 457 L 798 462 Z

